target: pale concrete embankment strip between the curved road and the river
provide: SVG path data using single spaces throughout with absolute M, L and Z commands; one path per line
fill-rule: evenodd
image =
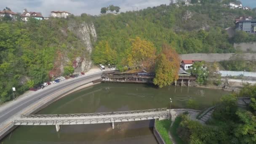
M 27 108 L 21 110 L 21 112 L 17 113 L 16 115 L 14 115 L 13 117 L 6 120 L 0 125 L 0 139 L 3 139 L 4 136 L 6 136 L 8 133 L 10 133 L 11 131 L 13 131 L 13 129 L 16 128 L 16 126 L 13 123 L 16 116 L 35 114 L 36 112 L 40 111 L 40 109 L 43 109 L 44 107 L 51 104 L 53 101 L 56 101 L 63 96 L 67 96 L 69 93 L 77 91 L 81 88 L 91 86 L 95 83 L 99 83 L 98 81 L 99 79 L 100 79 L 100 76 L 83 80 L 67 88 L 60 89 L 59 91 L 56 91 L 55 93 L 52 93 L 49 96 L 44 97 L 43 99 L 39 99 L 34 104 L 29 105 Z

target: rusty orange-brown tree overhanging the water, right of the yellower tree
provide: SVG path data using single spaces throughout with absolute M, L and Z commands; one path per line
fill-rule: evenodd
M 157 56 L 155 78 L 153 83 L 160 88 L 171 85 L 179 78 L 179 55 L 168 45 L 163 45 L 163 51 Z

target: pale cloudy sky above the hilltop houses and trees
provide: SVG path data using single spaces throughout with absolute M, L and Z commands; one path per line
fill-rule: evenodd
M 244 6 L 256 7 L 256 0 L 240 1 Z M 108 5 L 119 6 L 120 11 L 125 12 L 169 3 L 170 0 L 3 0 L 0 3 L 0 10 L 7 6 L 14 12 L 22 13 L 24 8 L 27 8 L 28 11 L 41 12 L 45 17 L 50 16 L 51 11 L 67 11 L 74 15 L 98 15 L 101 8 Z

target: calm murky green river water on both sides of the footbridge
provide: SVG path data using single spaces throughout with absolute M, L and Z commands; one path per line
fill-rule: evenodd
M 143 84 L 101 83 L 70 94 L 38 114 L 114 112 L 169 107 L 204 109 L 219 101 L 227 91 L 169 86 L 155 88 Z M 189 102 L 190 101 L 190 104 Z M 192 101 L 192 104 L 191 104 Z M 157 144 L 153 121 L 91 125 L 19 126 L 0 144 Z

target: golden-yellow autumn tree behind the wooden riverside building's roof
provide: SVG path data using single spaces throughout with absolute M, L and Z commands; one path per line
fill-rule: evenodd
M 136 37 L 131 46 L 131 53 L 128 54 L 128 66 L 131 69 L 137 69 L 139 67 L 150 69 L 155 64 L 155 53 L 156 48 L 153 43 Z

